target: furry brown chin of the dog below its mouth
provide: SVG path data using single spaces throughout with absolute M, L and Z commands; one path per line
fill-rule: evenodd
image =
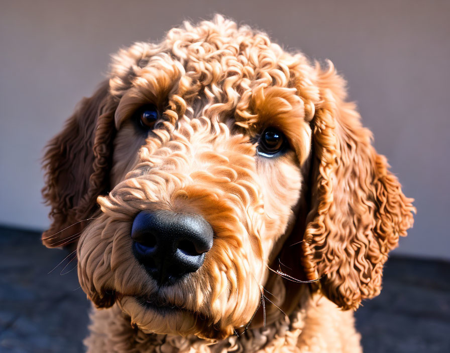
M 233 328 L 217 329 L 201 313 L 168 303 L 157 303 L 140 296 L 119 299 L 122 310 L 131 317 L 131 323 L 145 333 L 195 335 L 203 339 L 223 339 L 233 334 Z

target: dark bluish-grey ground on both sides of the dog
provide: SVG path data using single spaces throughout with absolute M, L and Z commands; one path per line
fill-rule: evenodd
M 75 260 L 48 274 L 66 255 L 0 227 L 0 352 L 83 351 L 89 303 Z M 356 318 L 365 353 L 450 352 L 450 263 L 391 257 L 381 295 Z

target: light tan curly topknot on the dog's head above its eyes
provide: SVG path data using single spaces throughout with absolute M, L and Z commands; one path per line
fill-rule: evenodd
M 187 78 L 189 82 L 181 85 L 185 95 L 195 95 L 205 87 L 213 95 L 217 90 L 242 95 L 261 84 L 295 87 L 293 76 L 305 64 L 303 55 L 285 52 L 265 33 L 234 23 L 204 22 L 173 29 L 158 44 L 136 43 L 121 50 L 113 57 L 110 85 L 120 97 L 124 90 L 142 86 L 149 72 L 166 72 L 170 77 L 165 79 L 175 81 L 173 85 Z

